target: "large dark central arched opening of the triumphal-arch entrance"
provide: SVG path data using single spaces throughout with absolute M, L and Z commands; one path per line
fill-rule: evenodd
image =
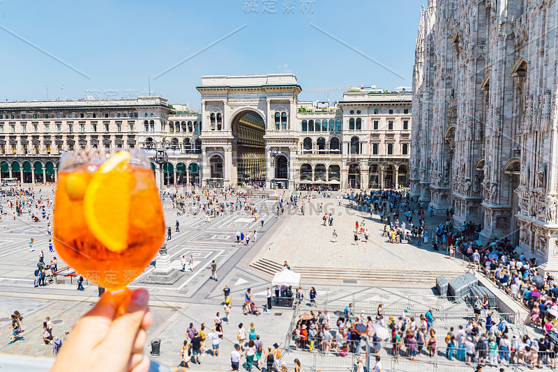
M 232 119 L 231 183 L 264 181 L 266 178 L 266 144 L 264 118 L 256 111 L 240 111 Z

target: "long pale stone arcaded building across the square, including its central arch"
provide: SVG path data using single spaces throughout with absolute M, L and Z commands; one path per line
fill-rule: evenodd
M 206 76 L 197 90 L 201 111 L 160 97 L 0 102 L 0 176 L 54 182 L 63 151 L 157 146 L 176 150 L 167 185 L 409 184 L 411 93 L 361 86 L 315 104 L 292 74 Z

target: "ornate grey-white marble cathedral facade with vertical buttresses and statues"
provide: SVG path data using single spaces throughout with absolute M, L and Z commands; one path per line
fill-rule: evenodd
M 430 0 L 413 79 L 412 193 L 558 273 L 556 1 Z

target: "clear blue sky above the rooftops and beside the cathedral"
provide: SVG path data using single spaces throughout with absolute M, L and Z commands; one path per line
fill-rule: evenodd
M 51 100 L 146 95 L 151 77 L 151 93 L 171 103 L 190 100 L 190 108 L 199 109 L 195 86 L 202 75 L 279 72 L 298 77 L 301 100 L 333 101 L 342 92 L 306 93 L 307 89 L 411 86 L 414 42 L 425 1 L 0 0 L 0 100 L 45 100 L 45 86 Z

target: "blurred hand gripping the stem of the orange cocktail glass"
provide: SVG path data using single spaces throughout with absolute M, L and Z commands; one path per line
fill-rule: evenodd
M 146 328 L 151 325 L 149 293 L 140 288 L 105 292 L 75 325 L 63 344 L 53 372 L 147 372 Z

